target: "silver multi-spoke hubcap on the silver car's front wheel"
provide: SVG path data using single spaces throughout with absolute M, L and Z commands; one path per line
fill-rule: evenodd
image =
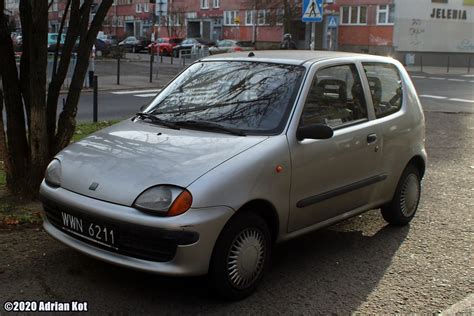
M 246 288 L 258 278 L 265 260 L 265 241 L 262 232 L 247 228 L 235 237 L 227 257 L 227 272 L 232 285 Z

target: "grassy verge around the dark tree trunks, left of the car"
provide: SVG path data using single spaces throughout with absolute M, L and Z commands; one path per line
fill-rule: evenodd
M 80 123 L 76 126 L 71 142 L 77 142 L 117 122 L 117 120 L 112 120 L 97 123 Z M 6 190 L 5 170 L 3 162 L 0 161 L 0 228 L 11 228 L 19 225 L 40 225 L 42 222 L 41 209 L 42 206 L 39 201 L 25 200 L 8 193 Z

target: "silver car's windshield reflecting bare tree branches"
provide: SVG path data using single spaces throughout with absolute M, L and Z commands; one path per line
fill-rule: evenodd
M 198 62 L 145 112 L 169 122 L 204 121 L 245 134 L 275 135 L 286 123 L 304 71 L 262 62 Z

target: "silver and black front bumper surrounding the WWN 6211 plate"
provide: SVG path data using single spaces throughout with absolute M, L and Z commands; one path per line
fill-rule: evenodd
M 165 275 L 206 274 L 217 237 L 234 214 L 231 208 L 219 206 L 191 208 L 176 217 L 152 216 L 132 207 L 96 200 L 63 188 L 52 188 L 44 182 L 40 196 L 47 211 L 43 226 L 52 237 L 94 258 Z M 119 246 L 117 251 L 81 240 L 61 229 L 58 218 L 53 216 L 59 210 L 114 226 L 126 225 L 128 230 L 133 228 L 131 236 L 135 239 L 130 239 L 128 245 Z M 142 239 L 137 240 L 137 236 Z M 148 245 L 147 249 L 153 248 L 153 252 L 139 253 L 136 247 L 130 250 L 130 245 L 138 248 Z

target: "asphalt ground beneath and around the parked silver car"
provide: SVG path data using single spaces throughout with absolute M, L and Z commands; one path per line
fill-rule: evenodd
M 43 231 L 0 231 L 0 314 L 10 300 L 87 301 L 95 313 L 437 313 L 474 289 L 472 114 L 427 112 L 429 165 L 412 223 L 377 210 L 277 247 L 252 297 L 223 303 L 204 278 L 115 267 Z

